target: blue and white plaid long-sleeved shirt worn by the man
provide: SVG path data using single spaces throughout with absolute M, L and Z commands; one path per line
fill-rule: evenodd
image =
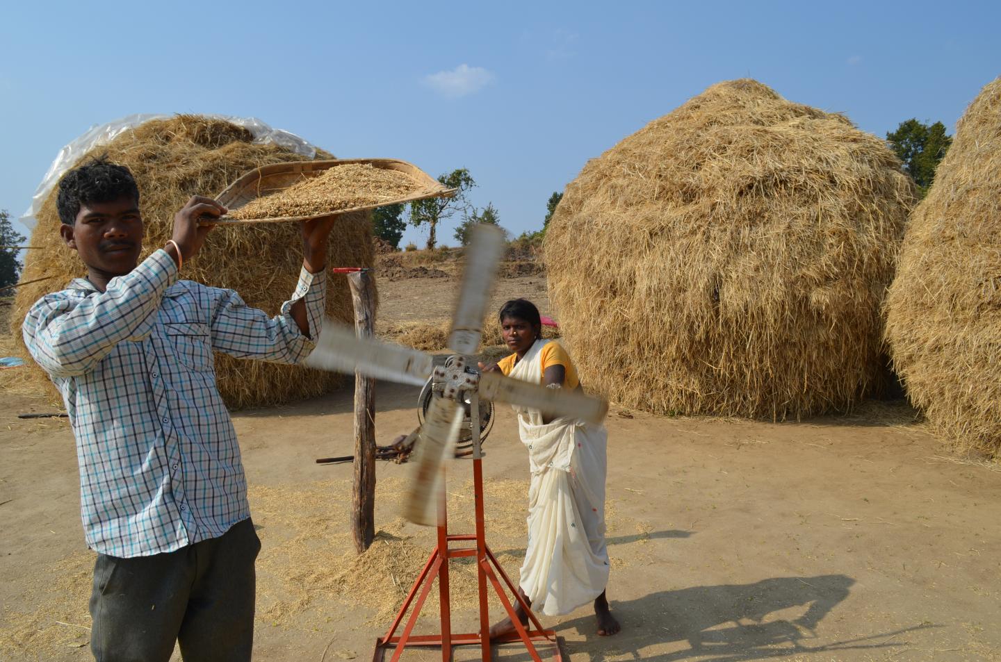
M 24 340 L 66 402 L 92 549 L 125 558 L 169 552 L 249 517 L 212 350 L 304 360 L 313 341 L 289 308 L 304 299 L 316 338 L 325 283 L 325 273 L 303 269 L 272 319 L 232 290 L 178 281 L 174 261 L 158 250 L 103 293 L 76 279 L 32 306 Z

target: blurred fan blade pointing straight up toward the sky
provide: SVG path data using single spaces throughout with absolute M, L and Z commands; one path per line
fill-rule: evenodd
M 448 347 L 456 354 L 474 354 L 482 335 L 483 314 L 490 286 L 504 251 L 504 230 L 493 225 L 474 225 L 465 249 L 462 290 L 451 320 Z

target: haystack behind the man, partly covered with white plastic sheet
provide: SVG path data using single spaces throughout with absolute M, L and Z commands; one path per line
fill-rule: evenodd
M 178 115 L 151 120 L 126 131 L 81 161 L 106 153 L 112 161 L 132 171 L 139 185 L 145 224 L 142 255 L 145 258 L 170 238 L 174 214 L 191 195 L 215 195 L 248 170 L 306 158 L 276 145 L 254 144 L 252 140 L 249 131 L 229 122 Z M 317 158 L 333 157 L 319 152 Z M 53 191 L 38 214 L 31 245 L 41 250 L 28 251 L 21 280 L 58 277 L 18 288 L 11 327 L 19 342 L 23 342 L 20 325 L 31 305 L 44 294 L 62 289 L 72 278 L 86 275 L 76 252 L 67 248 L 59 237 L 56 196 Z M 342 216 L 331 237 L 331 265 L 372 265 L 367 215 Z M 295 223 L 221 226 L 208 235 L 198 255 L 185 261 L 181 278 L 234 289 L 247 304 L 274 315 L 295 288 L 302 264 L 301 245 Z M 354 314 L 345 277 L 328 274 L 328 315 L 352 323 Z M 47 376 L 34 361 L 29 364 L 34 370 L 33 379 L 48 384 Z M 335 373 L 244 361 L 221 354 L 216 355 L 215 372 L 219 391 L 230 408 L 311 397 L 330 390 L 341 379 Z

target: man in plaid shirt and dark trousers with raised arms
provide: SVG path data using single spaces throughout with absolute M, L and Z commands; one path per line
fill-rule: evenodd
M 178 280 L 226 209 L 195 196 L 138 263 L 127 168 L 93 160 L 59 184 L 60 232 L 87 267 L 22 327 L 76 437 L 87 544 L 97 555 L 91 649 L 100 661 L 249 660 L 260 541 L 212 350 L 297 363 L 318 337 L 330 217 L 302 224 L 303 268 L 268 318 L 231 290 Z

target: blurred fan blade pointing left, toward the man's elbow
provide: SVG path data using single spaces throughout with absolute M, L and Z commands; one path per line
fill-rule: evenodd
M 423 384 L 433 369 L 429 354 L 374 338 L 358 338 L 354 329 L 332 320 L 323 322 L 316 348 L 305 364 L 349 374 L 357 370 L 375 379 L 414 386 Z

